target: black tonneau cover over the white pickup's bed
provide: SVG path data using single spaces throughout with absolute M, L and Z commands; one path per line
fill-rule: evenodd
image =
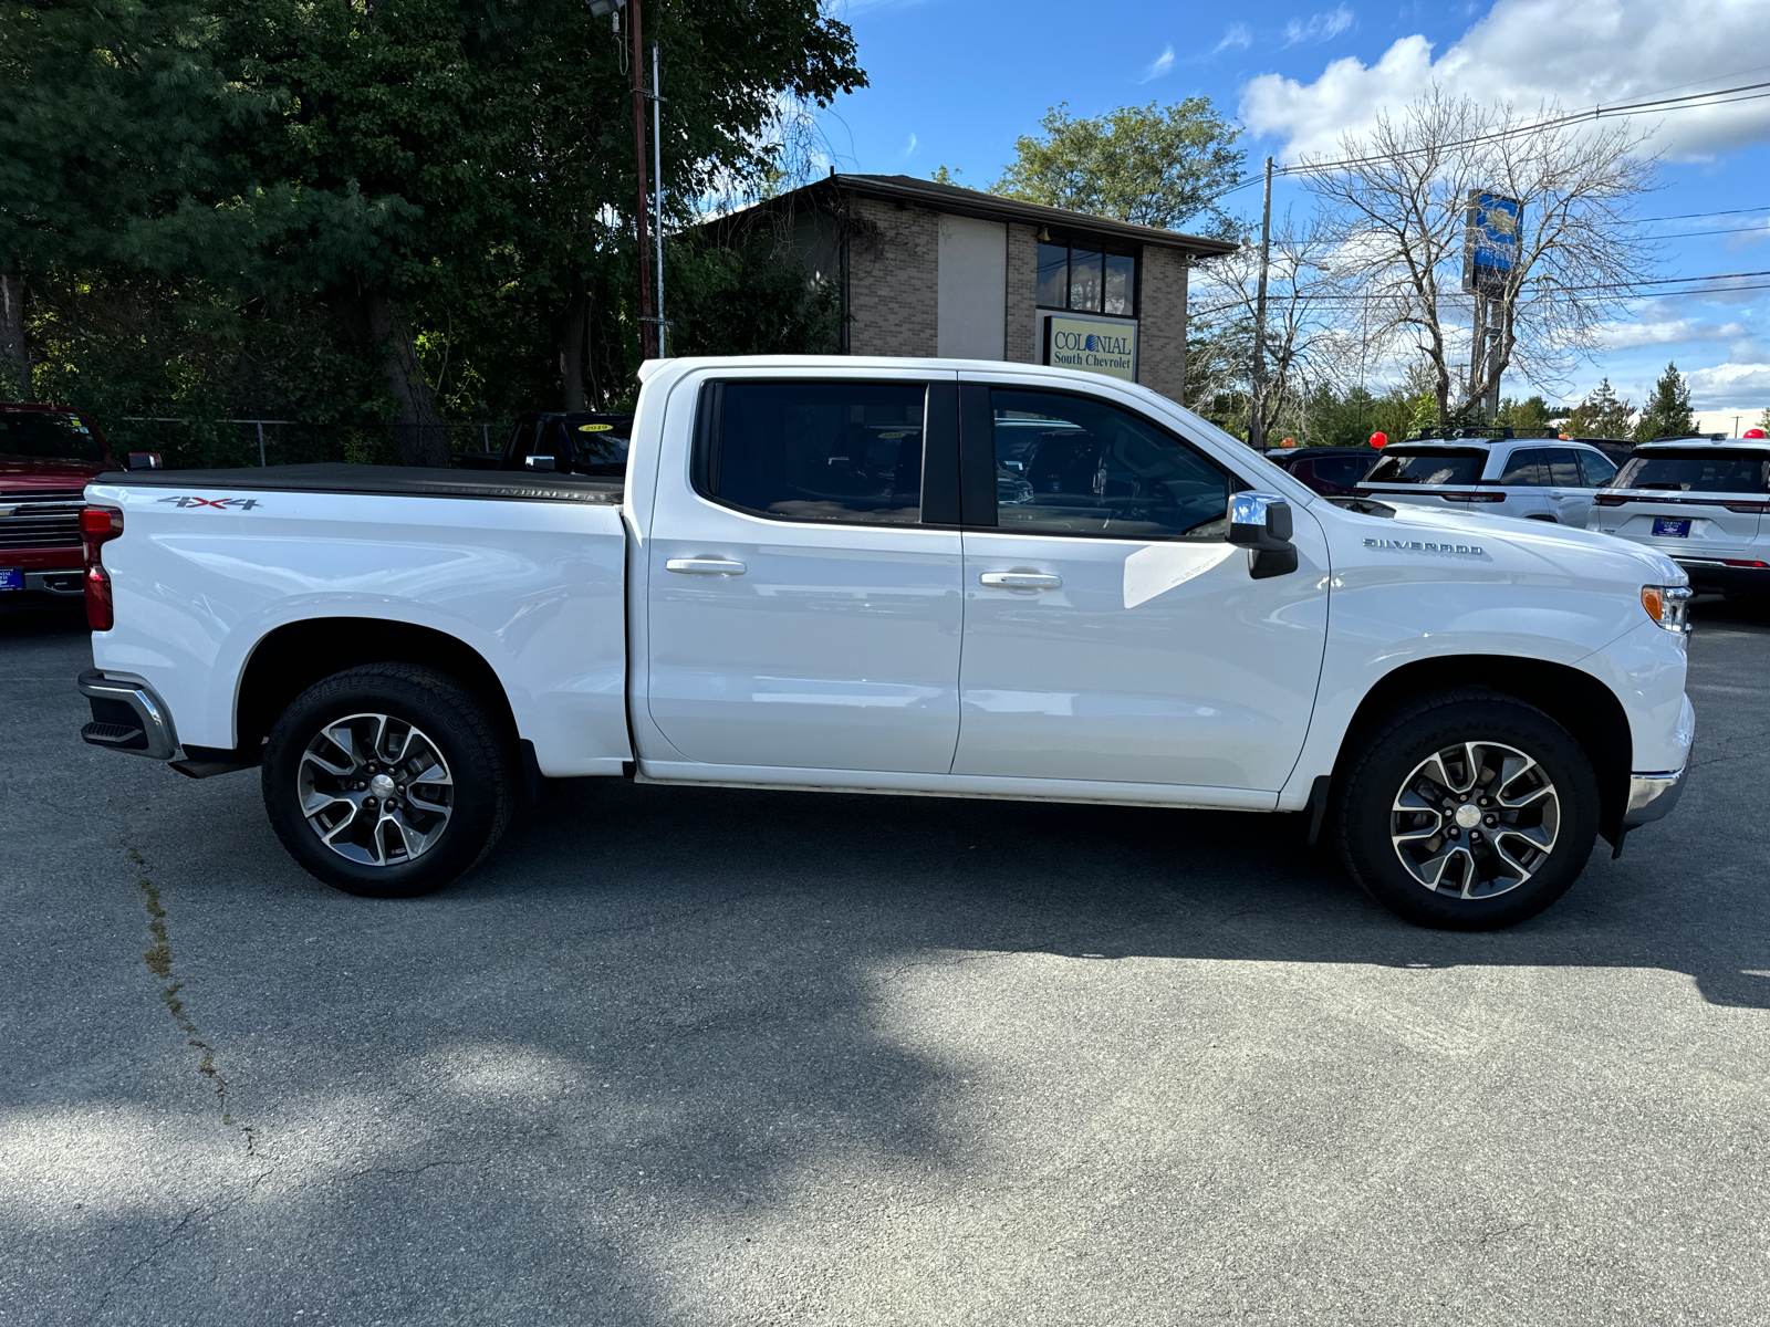
M 620 479 L 524 471 L 441 471 L 419 465 L 242 465 L 227 471 L 108 471 L 92 483 L 129 488 L 375 494 L 391 497 L 503 497 L 527 502 L 620 506 Z

